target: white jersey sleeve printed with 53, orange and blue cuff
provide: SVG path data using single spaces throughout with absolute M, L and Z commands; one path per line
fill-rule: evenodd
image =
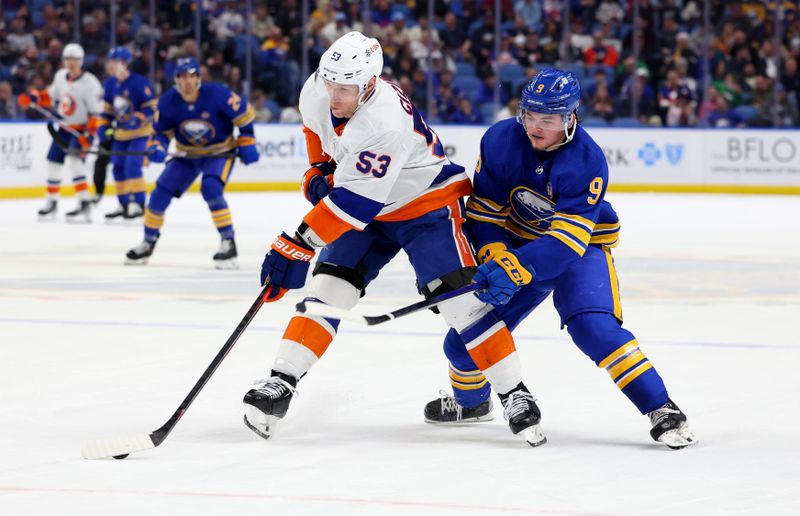
M 384 208 L 409 150 L 396 130 L 368 137 L 337 164 L 335 187 L 304 218 L 329 244 L 350 229 L 363 230 Z

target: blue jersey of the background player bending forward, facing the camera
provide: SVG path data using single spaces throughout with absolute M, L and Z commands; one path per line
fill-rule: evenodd
M 156 139 L 167 148 L 175 138 L 179 151 L 193 156 L 227 152 L 255 143 L 255 110 L 249 102 L 221 84 L 203 84 L 194 102 L 170 88 L 158 101 Z M 233 127 L 239 138 L 233 137 Z

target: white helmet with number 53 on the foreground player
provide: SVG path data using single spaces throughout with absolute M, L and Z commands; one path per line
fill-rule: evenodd
M 317 74 L 337 84 L 355 84 L 359 95 L 373 77 L 383 73 L 383 49 L 375 38 L 348 32 L 337 39 L 319 60 Z

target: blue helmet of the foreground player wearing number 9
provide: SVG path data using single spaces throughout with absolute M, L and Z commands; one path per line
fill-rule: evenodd
M 552 115 L 571 115 L 581 102 L 581 85 L 572 72 L 542 70 L 522 89 L 520 109 Z

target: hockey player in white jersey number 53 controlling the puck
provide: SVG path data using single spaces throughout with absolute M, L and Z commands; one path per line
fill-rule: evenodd
M 300 112 L 311 163 L 303 191 L 315 206 L 292 234 L 282 233 L 272 243 L 261 269 L 262 285 L 271 287 L 266 302 L 302 287 L 317 252 L 306 299 L 346 310 L 401 249 L 426 297 L 472 279 L 476 262 L 462 231 L 469 178 L 446 157 L 402 90 L 380 78 L 382 69 L 378 41 L 351 32 L 324 53 L 303 86 Z M 492 385 L 500 385 L 496 390 L 512 432 L 531 445 L 542 444 L 538 407 L 522 383 L 511 334 L 491 305 L 467 295 L 438 310 Z M 244 397 L 250 429 L 270 436 L 298 380 L 328 348 L 338 326 L 337 319 L 294 315 L 270 377 Z

